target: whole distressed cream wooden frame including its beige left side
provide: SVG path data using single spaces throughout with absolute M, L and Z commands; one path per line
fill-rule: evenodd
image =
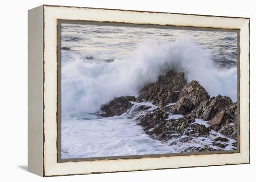
M 58 22 L 60 20 L 238 32 L 239 145 L 236 152 L 58 159 Z M 60 117 L 60 116 L 59 116 Z M 42 5 L 28 11 L 28 170 L 40 176 L 249 163 L 249 19 Z

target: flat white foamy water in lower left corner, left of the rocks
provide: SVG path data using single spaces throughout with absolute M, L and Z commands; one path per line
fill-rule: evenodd
M 61 122 L 61 158 L 175 152 L 172 146 L 150 138 L 137 123 L 123 117 L 63 120 Z

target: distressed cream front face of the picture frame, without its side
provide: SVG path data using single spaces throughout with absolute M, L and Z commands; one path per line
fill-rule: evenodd
M 155 13 L 110 10 L 70 6 L 40 6 L 43 10 L 43 144 L 41 176 L 63 176 L 118 171 L 170 169 L 249 163 L 249 19 L 191 14 Z M 41 10 L 41 9 L 40 9 Z M 58 19 L 112 22 L 140 25 L 168 25 L 239 30 L 240 40 L 240 150 L 236 153 L 201 154 L 187 156 L 142 157 L 130 159 L 102 159 L 93 161 L 58 163 L 57 150 L 57 73 L 58 73 Z M 238 73 L 239 74 L 239 73 Z M 29 75 L 31 76 L 31 75 Z M 39 124 L 39 125 L 40 125 Z M 28 128 L 31 130 L 32 128 Z M 41 128 L 42 129 L 42 128 Z M 33 141 L 32 141 L 33 142 Z M 40 143 L 41 144 L 41 143 Z M 33 149 L 28 149 L 29 151 Z M 29 163 L 29 166 L 31 164 Z M 33 172 L 32 170 L 30 170 Z

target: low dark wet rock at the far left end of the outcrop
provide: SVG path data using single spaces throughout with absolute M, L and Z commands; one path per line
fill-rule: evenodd
M 134 96 L 122 96 L 111 100 L 101 106 L 101 115 L 104 117 L 119 116 L 130 109 L 133 104 L 130 101 L 138 101 Z

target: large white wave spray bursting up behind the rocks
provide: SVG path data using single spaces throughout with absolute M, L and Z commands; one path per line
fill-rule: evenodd
M 64 50 L 62 55 L 63 114 L 95 113 L 115 97 L 137 96 L 143 86 L 169 70 L 184 72 L 188 82 L 199 81 L 210 96 L 221 94 L 236 101 L 236 68 L 216 69 L 211 52 L 191 39 L 147 40 L 138 44 L 130 58 L 113 63 L 83 60 L 75 51 Z

